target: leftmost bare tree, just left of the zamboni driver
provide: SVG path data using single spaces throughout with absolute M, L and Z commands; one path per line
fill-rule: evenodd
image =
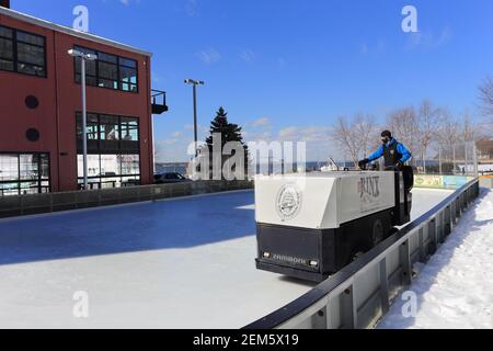
M 374 120 L 370 115 L 358 113 L 353 118 L 340 116 L 334 125 L 332 137 L 349 155 L 355 167 L 372 146 L 377 131 Z

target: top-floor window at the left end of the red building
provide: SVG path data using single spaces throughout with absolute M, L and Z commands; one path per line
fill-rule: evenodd
M 46 77 L 46 38 L 0 26 L 0 70 Z

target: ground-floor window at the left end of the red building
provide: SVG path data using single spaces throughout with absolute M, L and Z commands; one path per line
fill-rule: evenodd
M 0 196 L 49 191 L 48 154 L 0 154 Z

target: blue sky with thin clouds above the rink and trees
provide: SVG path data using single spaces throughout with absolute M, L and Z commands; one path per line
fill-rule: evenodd
M 171 111 L 156 117 L 167 161 L 186 160 L 193 137 L 191 88 L 199 89 L 202 135 L 218 106 L 246 139 L 309 140 L 308 158 L 337 156 L 330 127 L 339 115 L 431 99 L 473 115 L 477 87 L 493 72 L 490 0 L 12 0 L 14 10 L 71 25 L 90 11 L 90 32 L 154 54 L 156 89 Z M 419 33 L 401 30 L 416 7 Z

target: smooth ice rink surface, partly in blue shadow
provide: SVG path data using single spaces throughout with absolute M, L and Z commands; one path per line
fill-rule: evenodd
M 413 190 L 413 217 L 449 195 Z M 313 284 L 257 271 L 253 192 L 0 220 L 0 328 L 240 328 Z M 89 318 L 76 318 L 77 292 Z

